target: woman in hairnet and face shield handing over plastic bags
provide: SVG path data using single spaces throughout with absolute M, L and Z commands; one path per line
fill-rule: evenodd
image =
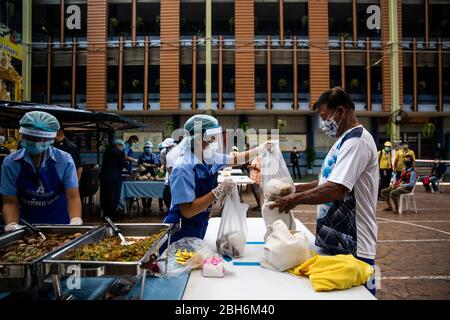
M 226 155 L 222 147 L 222 128 L 209 115 L 195 115 L 184 125 L 186 136 L 169 152 L 167 158 L 177 159 L 170 176 L 172 203 L 165 223 L 178 223 L 181 229 L 171 238 L 203 239 L 208 227 L 212 204 L 220 201 L 234 187 L 232 180 L 217 185 L 218 171 L 238 163 L 239 159 L 253 159 L 267 148 L 268 143 L 239 153 Z

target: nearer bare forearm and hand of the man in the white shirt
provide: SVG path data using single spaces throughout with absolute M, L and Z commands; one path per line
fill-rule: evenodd
M 347 187 L 327 181 L 316 188 L 278 198 L 275 204 L 270 205 L 270 209 L 279 208 L 280 212 L 289 212 L 299 204 L 322 204 L 341 200 L 347 192 Z

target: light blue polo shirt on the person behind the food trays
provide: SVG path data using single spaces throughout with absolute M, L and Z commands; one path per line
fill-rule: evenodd
M 34 170 L 36 170 L 30 155 L 25 149 L 20 149 L 13 154 L 8 155 L 3 161 L 0 194 L 6 196 L 17 196 L 16 181 L 20 173 L 20 160 L 24 160 L 29 163 Z M 45 153 L 44 159 L 41 164 L 42 168 L 45 168 L 48 161 L 55 163 L 55 169 L 59 178 L 64 183 L 64 188 L 72 189 L 78 188 L 77 170 L 73 162 L 72 156 L 59 149 L 50 147 Z

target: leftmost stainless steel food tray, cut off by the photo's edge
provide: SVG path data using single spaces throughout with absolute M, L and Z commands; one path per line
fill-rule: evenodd
M 33 286 L 40 287 L 44 280 L 45 274 L 42 269 L 42 261 L 52 253 L 65 247 L 71 246 L 78 240 L 82 240 L 88 236 L 90 232 L 98 228 L 98 226 L 71 226 L 71 225 L 36 225 L 44 234 L 74 234 L 82 233 L 79 238 L 73 239 L 61 247 L 45 254 L 34 261 L 30 262 L 2 262 L 0 261 L 0 292 L 9 291 L 26 291 Z M 26 228 L 7 232 L 0 235 L 0 248 L 4 248 L 15 241 L 18 241 L 29 235 L 31 231 Z

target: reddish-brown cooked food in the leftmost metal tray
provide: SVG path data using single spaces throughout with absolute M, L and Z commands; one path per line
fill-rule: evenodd
M 31 262 L 79 236 L 81 236 L 81 233 L 47 234 L 46 240 L 39 235 L 25 236 L 23 239 L 0 249 L 0 263 Z

